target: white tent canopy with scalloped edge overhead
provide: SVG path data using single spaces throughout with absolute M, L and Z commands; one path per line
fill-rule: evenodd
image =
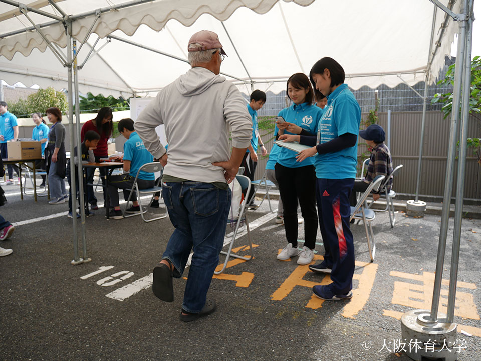
M 42 11 L 60 15 L 46 0 L 35 3 Z M 109 35 L 186 59 L 190 36 L 201 29 L 213 30 L 229 56 L 222 72 L 237 84 L 242 83 L 240 80 L 247 82 L 239 85 L 245 92 L 251 90 L 251 80 L 254 88 L 278 92 L 285 89 L 291 74 L 308 74 L 323 56 L 336 59 L 344 67 L 346 82 L 354 89 L 379 84 L 394 87 L 401 82 L 414 85 L 425 79 L 428 63 L 437 75 L 457 32 L 457 23 L 450 18 L 441 31 L 447 15 L 435 11 L 428 0 L 156 0 L 99 12 L 97 21 L 95 14 L 85 16 L 97 8 L 122 3 L 57 1 L 61 10 L 73 15 L 72 35 L 77 46 L 93 25 L 93 34 L 79 52 L 79 65 L 100 37 L 95 45 L 100 51 L 94 52 L 78 73 L 83 93 L 152 95 L 189 68 L 181 60 L 109 39 Z M 458 6 L 459 2 L 454 4 L 455 13 Z M 1 14 L 16 9 L 0 3 L 0 20 Z M 56 22 L 33 12 L 27 15 L 36 24 Z M 7 17 L 0 21 L 0 35 L 26 27 L 31 23 L 25 15 Z M 66 46 L 61 23 L 41 30 L 57 48 Z M 35 30 L 0 39 L 0 55 L 0 79 L 7 83 L 67 88 L 66 69 Z

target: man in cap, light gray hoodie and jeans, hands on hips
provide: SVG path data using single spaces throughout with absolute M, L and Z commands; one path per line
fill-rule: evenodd
M 185 322 L 216 310 L 207 291 L 225 236 L 231 203 L 228 183 L 237 174 L 252 133 L 242 95 L 219 75 L 225 52 L 217 34 L 195 33 L 188 52 L 192 69 L 163 88 L 134 123 L 145 147 L 165 167 L 162 196 L 175 227 L 153 270 L 155 296 L 173 301 L 172 277 L 182 276 L 193 250 L 180 313 Z M 160 124 L 165 126 L 168 151 L 155 132 Z

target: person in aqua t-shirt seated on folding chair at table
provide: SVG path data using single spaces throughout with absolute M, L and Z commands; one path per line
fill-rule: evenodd
M 132 189 L 135 177 L 137 176 L 137 172 L 139 171 L 140 167 L 146 163 L 151 163 L 154 160 L 154 157 L 145 148 L 144 142 L 134 130 L 134 121 L 132 119 L 122 119 L 118 124 L 118 129 L 119 133 L 127 138 L 127 141 L 124 144 L 123 169 L 124 172 L 128 173 L 119 176 L 112 176 L 108 182 L 110 204 L 114 208 L 114 211 L 111 211 L 110 213 L 110 218 L 113 219 L 123 218 L 119 205 L 119 189 L 124 190 L 124 198 L 127 200 L 129 198 L 130 189 Z M 152 188 L 155 183 L 154 179 L 155 177 L 153 173 L 141 171 L 139 173 L 139 177 L 137 178 L 139 189 Z M 128 208 L 126 212 L 140 212 L 139 202 L 137 201 L 137 196 L 135 193 L 132 193 L 131 200 L 133 206 Z

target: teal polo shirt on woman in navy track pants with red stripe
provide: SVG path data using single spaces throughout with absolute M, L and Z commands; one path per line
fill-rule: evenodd
M 347 84 L 341 84 L 327 97 L 327 110 L 319 123 L 318 143 L 326 143 L 345 133 L 359 134 L 361 108 Z M 356 178 L 357 141 L 339 152 L 318 154 L 315 158 L 319 179 Z M 304 163 L 304 162 L 303 162 Z

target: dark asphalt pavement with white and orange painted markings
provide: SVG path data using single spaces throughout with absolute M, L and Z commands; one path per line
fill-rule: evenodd
M 405 361 L 410 359 L 405 352 L 393 352 L 393 343 L 402 339 L 399 317 L 430 308 L 441 219 L 437 215 L 412 218 L 397 213 L 391 228 L 387 213 L 378 213 L 372 263 L 364 226 L 352 225 L 354 297 L 323 302 L 312 296 L 311 287 L 328 283 L 329 276 L 310 272 L 296 258 L 276 259 L 286 242 L 284 226 L 275 224 L 276 215 L 265 201 L 248 213 L 255 258 L 231 261 L 223 274 L 214 276 L 208 298 L 217 302 L 218 310 L 184 323 L 179 313 L 185 279 L 174 279 L 172 303 L 157 299 L 150 286 L 152 269 L 173 230 L 168 218 L 107 221 L 100 208 L 86 220 L 92 261 L 71 265 L 67 203 L 48 205 L 46 197 L 35 203 L 32 196 L 21 201 L 18 186 L 4 190 L 9 202 L 0 214 L 16 230 L 0 243 L 14 250 L 0 258 L 0 360 Z M 272 206 L 277 208 L 277 201 Z M 450 218 L 443 312 L 452 229 Z M 248 253 L 245 232 L 234 242 L 238 254 Z M 320 233 L 317 242 L 316 258 L 321 259 Z M 464 219 L 455 313 L 459 360 L 481 359 L 480 245 L 481 220 Z M 82 256 L 81 245 L 79 251 Z

